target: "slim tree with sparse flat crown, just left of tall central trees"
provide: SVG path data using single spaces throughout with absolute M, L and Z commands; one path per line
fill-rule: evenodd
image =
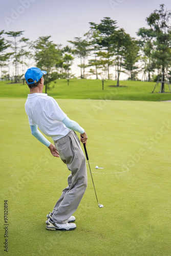
M 87 68 L 86 65 L 86 58 L 89 55 L 90 52 L 90 44 L 86 39 L 82 39 L 81 37 L 74 37 L 75 41 L 68 41 L 71 42 L 71 44 L 74 45 L 73 54 L 78 56 L 80 58 L 80 67 L 81 75 L 80 78 L 85 78 L 85 69 Z

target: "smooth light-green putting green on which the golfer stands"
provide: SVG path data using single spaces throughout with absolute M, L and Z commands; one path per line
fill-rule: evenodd
M 97 205 L 87 166 L 88 188 L 74 214 L 77 228 L 67 232 L 46 230 L 45 221 L 70 173 L 31 135 L 25 101 L 0 99 L 0 254 L 170 256 L 170 102 L 56 99 L 88 134 L 90 166 L 104 205 Z M 8 253 L 2 245 L 4 200 Z

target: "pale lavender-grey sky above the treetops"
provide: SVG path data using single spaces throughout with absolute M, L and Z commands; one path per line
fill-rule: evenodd
M 98 24 L 103 17 L 116 20 L 119 28 L 135 37 L 160 4 L 171 10 L 170 0 L 0 0 L 0 4 L 0 31 L 24 30 L 23 36 L 30 40 L 51 35 L 63 46 L 88 32 L 89 22 Z

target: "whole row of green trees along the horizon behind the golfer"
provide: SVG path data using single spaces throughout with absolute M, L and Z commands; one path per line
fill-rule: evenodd
M 162 80 L 161 92 L 164 92 L 164 80 L 171 76 L 170 17 L 171 12 L 161 4 L 159 10 L 146 17 L 148 28 L 140 28 L 137 38 L 118 28 L 116 20 L 104 17 L 99 24 L 90 22 L 89 31 L 83 37 L 69 40 L 70 45 L 66 47 L 55 44 L 51 36 L 40 36 L 33 42 L 23 37 L 24 31 L 3 30 L 0 32 L 2 76 L 10 77 L 10 70 L 4 68 L 10 68 L 9 63 L 12 63 L 14 82 L 17 82 L 30 66 L 30 60 L 34 59 L 38 68 L 47 71 L 47 86 L 57 78 L 66 78 L 69 84 L 74 76 L 71 66 L 74 57 L 78 57 L 80 78 L 94 75 L 102 80 L 102 90 L 106 79 L 116 79 L 119 86 L 121 72 L 130 80 L 138 79 L 138 74 L 142 73 L 144 80 L 151 81 L 157 71 L 157 78 L 161 76 Z

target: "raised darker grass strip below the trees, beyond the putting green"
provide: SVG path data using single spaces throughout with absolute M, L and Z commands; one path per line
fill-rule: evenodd
M 171 100 L 171 93 L 168 93 L 169 90 L 166 84 L 166 93 L 162 94 L 158 93 L 160 85 L 156 88 L 155 93 L 152 94 L 155 82 L 120 81 L 119 88 L 110 86 L 116 86 L 116 81 L 106 80 L 102 91 L 101 80 L 71 79 L 68 86 L 66 79 L 60 79 L 51 83 L 48 95 L 61 99 Z M 26 84 L 0 82 L 0 97 L 26 98 L 28 93 L 29 89 Z

